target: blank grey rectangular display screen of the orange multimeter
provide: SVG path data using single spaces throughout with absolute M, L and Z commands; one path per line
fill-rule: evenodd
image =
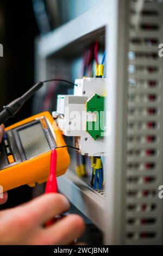
M 18 130 L 18 135 L 27 160 L 51 149 L 40 122 Z

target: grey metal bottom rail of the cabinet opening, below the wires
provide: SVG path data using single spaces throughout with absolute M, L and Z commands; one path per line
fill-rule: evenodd
M 104 210 L 105 198 L 93 191 L 82 179 L 71 170 L 58 178 L 59 190 L 76 208 L 90 218 L 99 229 L 105 231 Z

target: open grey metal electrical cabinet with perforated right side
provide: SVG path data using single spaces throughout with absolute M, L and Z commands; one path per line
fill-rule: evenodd
M 69 130 L 64 131 L 70 138 L 80 136 L 79 143 L 85 143 L 83 154 L 89 155 L 89 150 L 90 155 L 105 152 L 104 188 L 93 190 L 87 178 L 76 175 L 73 155 L 67 173 L 58 179 L 60 191 L 102 230 L 105 244 L 163 242 L 163 201 L 158 197 L 158 187 L 163 184 L 163 58 L 158 55 L 158 45 L 163 42 L 162 15 L 163 3 L 159 0 L 103 0 L 36 40 L 36 81 L 53 78 L 57 68 L 64 69 L 71 80 L 79 78 L 74 71 L 78 59 L 86 45 L 96 39 L 107 51 L 106 78 L 92 78 L 100 79 L 105 86 L 96 88 L 96 82 L 91 86 L 89 78 L 76 80 L 78 87 L 73 95 L 64 95 L 63 99 L 59 95 L 58 109 L 53 109 L 64 114 L 65 106 L 76 108 L 80 98 L 80 112 L 96 90 L 105 94 L 104 108 L 111 121 L 99 145 L 102 151 L 93 139 L 86 144 L 89 139 L 84 139 L 90 135 L 85 131 L 79 129 L 74 134 L 69 127 L 71 120 L 66 120 Z M 64 122 L 60 119 L 59 126 L 64 127 Z

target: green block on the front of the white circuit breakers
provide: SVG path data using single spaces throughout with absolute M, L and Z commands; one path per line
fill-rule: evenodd
M 86 102 L 86 111 L 92 112 L 96 117 L 95 120 L 86 122 L 86 131 L 93 139 L 104 137 L 104 98 L 94 94 Z

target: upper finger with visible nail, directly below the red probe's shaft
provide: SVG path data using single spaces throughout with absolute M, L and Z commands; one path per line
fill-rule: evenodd
M 55 215 L 67 211 L 70 208 L 70 204 L 62 194 L 49 193 L 23 204 L 21 208 L 26 214 L 29 212 L 31 221 L 41 225 L 54 218 Z

